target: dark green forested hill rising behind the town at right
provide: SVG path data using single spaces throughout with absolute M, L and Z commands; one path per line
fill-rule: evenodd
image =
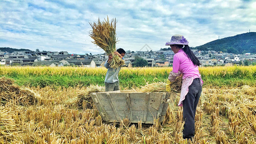
M 195 47 L 199 50 L 215 50 L 234 54 L 256 53 L 256 32 L 225 37 Z

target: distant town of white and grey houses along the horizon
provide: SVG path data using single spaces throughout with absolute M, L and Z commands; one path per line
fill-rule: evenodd
M 221 51 L 199 51 L 192 49 L 195 56 L 200 60 L 200 67 L 205 66 L 232 66 L 232 65 L 256 65 L 256 54 L 245 53 L 235 55 Z M 147 61 L 147 67 L 172 66 L 174 53 L 170 49 L 158 51 L 126 51 L 124 56 L 125 67 L 133 67 L 136 58 Z M 0 65 L 6 66 L 81 66 L 81 67 L 104 67 L 108 55 L 103 54 L 69 54 L 67 51 L 14 51 L 8 53 L 0 51 Z

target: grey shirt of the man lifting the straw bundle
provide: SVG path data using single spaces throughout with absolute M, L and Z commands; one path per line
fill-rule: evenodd
M 108 63 L 108 60 L 106 60 L 106 62 L 104 64 L 104 66 L 108 69 L 106 77 L 105 77 L 105 83 L 115 83 L 115 82 L 119 81 L 118 73 L 121 70 L 121 67 L 118 67 L 115 69 L 110 68 L 110 64 Z

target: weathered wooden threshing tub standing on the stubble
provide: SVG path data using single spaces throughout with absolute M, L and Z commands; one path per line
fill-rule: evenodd
M 114 122 L 124 118 L 132 123 L 153 123 L 165 118 L 169 103 L 176 96 L 169 93 L 140 93 L 134 90 L 91 93 L 91 97 L 103 120 Z

